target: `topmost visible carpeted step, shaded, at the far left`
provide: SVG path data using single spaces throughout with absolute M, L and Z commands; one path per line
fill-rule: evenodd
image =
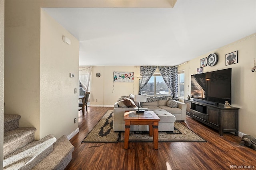
M 14 130 L 19 127 L 20 115 L 4 114 L 4 132 Z

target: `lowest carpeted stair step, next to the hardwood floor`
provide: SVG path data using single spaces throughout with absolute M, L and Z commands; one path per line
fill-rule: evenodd
M 72 159 L 74 146 L 66 136 L 54 143 L 54 150 L 39 162 L 32 170 L 64 170 Z

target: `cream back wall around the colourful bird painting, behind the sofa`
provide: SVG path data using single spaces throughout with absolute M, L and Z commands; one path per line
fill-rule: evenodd
M 120 96 L 130 93 L 138 94 L 139 70 L 140 68 L 135 66 L 94 66 L 91 77 L 90 106 L 114 106 Z M 101 74 L 99 78 L 95 76 L 97 72 Z M 134 83 L 113 83 L 113 72 L 134 72 Z

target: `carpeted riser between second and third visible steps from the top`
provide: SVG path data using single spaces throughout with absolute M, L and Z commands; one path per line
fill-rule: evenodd
M 34 135 L 35 135 L 35 133 L 32 133 L 32 134 L 16 141 L 15 144 L 10 144 L 8 146 L 5 146 L 4 147 L 4 157 L 15 152 L 19 148 L 22 148 L 23 146 L 29 144 L 30 142 L 34 141 L 34 139 L 35 139 Z

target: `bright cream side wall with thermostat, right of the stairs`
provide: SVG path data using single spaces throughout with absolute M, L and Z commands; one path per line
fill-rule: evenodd
M 71 45 L 62 41 L 71 40 Z M 40 137 L 68 136 L 78 128 L 79 41 L 41 10 Z M 74 78 L 70 78 L 70 73 Z M 74 118 L 77 122 L 74 124 Z

